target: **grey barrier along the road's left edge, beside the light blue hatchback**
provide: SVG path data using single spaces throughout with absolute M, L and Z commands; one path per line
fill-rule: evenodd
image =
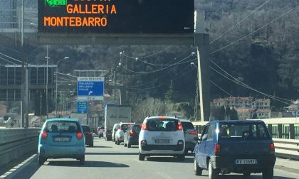
M 0 129 L 0 167 L 25 154 L 36 153 L 41 129 Z

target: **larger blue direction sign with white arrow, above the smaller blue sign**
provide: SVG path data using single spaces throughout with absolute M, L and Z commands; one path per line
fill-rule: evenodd
M 78 77 L 78 100 L 103 100 L 104 77 Z

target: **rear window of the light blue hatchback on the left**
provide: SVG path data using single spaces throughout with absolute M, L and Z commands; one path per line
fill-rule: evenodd
M 80 131 L 80 127 L 75 121 L 48 121 L 43 131 L 73 133 Z

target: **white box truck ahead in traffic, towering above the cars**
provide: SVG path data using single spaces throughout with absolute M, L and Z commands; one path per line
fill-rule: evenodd
M 103 137 L 106 141 L 111 141 L 112 139 L 112 128 L 114 124 L 120 122 L 131 122 L 132 112 L 130 106 L 117 105 L 117 104 L 107 104 L 105 106 L 105 116 L 104 116 L 104 126 L 105 131 Z

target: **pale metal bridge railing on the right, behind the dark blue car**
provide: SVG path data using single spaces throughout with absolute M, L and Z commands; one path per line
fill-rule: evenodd
M 255 119 L 256 120 L 256 119 Z M 260 119 L 265 122 L 270 132 L 276 156 L 299 160 L 299 118 Z M 192 122 L 199 134 L 208 121 Z

